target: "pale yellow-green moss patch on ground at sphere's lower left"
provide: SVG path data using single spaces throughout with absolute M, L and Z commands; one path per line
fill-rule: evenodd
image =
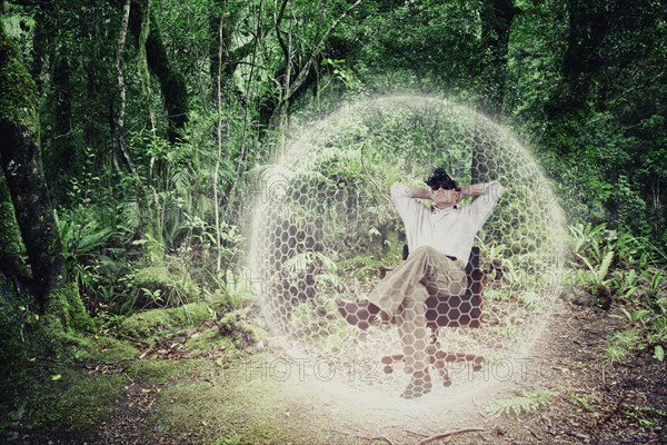
M 259 354 L 245 364 L 260 366 L 273 359 Z M 316 407 L 302 400 L 298 389 L 289 390 L 298 386 L 286 387 L 285 382 L 247 373 L 243 363 L 237 364 L 238 368 L 209 374 L 206 379 L 179 378 L 165 387 L 149 424 L 157 431 L 190 433 L 198 443 L 217 445 L 342 443 L 327 437 L 321 417 L 312 415 Z M 293 415 L 286 414 L 289 412 Z

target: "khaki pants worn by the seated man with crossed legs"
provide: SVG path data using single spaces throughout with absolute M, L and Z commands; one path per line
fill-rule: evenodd
M 462 261 L 432 247 L 420 247 L 369 294 L 370 303 L 396 317 L 406 373 L 425 370 L 429 365 L 425 303 L 428 296 L 460 296 L 467 285 Z

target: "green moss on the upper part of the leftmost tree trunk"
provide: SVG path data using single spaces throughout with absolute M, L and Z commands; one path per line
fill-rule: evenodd
M 37 87 L 16 46 L 0 30 L 0 120 L 37 135 Z

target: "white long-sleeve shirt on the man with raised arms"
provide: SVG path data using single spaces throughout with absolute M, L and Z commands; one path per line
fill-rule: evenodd
M 498 181 L 487 182 L 482 195 L 469 206 L 432 210 L 410 196 L 408 186 L 391 186 L 391 198 L 404 220 L 410 251 L 430 246 L 468 263 L 475 235 L 488 219 L 502 194 Z

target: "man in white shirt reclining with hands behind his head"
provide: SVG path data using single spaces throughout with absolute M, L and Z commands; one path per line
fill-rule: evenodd
M 406 229 L 408 259 L 380 281 L 368 301 L 337 301 L 345 319 L 364 330 L 378 315 L 384 319 L 396 317 L 405 370 L 412 376 L 401 394 L 404 398 L 421 397 L 431 390 L 425 301 L 429 294 L 466 293 L 465 267 L 475 235 L 502 192 L 498 181 L 459 187 L 442 168 L 437 168 L 426 184 L 429 188 L 391 187 L 391 198 Z M 458 206 L 467 196 L 477 198 L 469 206 Z M 425 206 L 417 199 L 432 204 Z

